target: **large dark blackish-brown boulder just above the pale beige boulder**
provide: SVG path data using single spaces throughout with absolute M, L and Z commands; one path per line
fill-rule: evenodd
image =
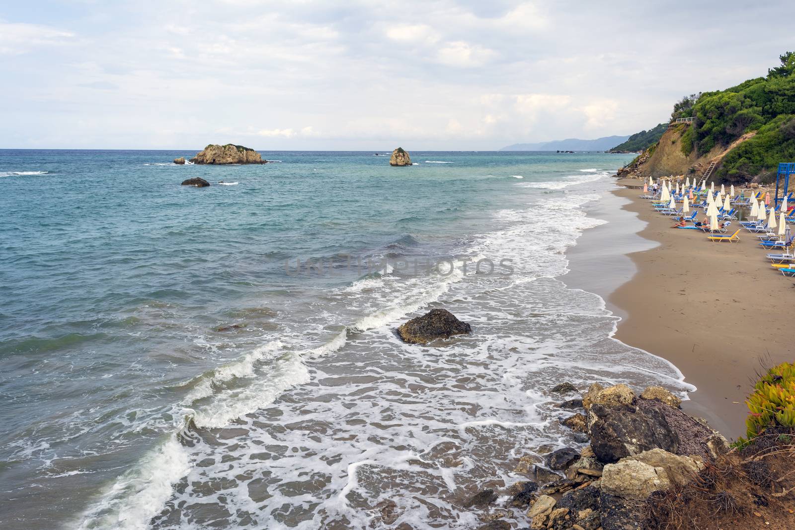
M 656 409 L 641 412 L 621 405 L 591 405 L 588 411 L 591 448 L 602 462 L 618 462 L 627 456 L 640 455 L 655 447 L 676 453 L 679 437 Z

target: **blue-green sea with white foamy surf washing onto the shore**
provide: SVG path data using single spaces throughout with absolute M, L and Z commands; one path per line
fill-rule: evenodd
M 553 386 L 684 397 L 567 285 L 631 155 L 195 153 L 0 150 L 0 528 L 477 528 Z

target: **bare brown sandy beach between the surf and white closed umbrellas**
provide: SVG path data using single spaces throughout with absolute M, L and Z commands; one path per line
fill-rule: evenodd
M 639 180 L 622 179 L 615 195 L 646 222 L 638 235 L 657 246 L 633 252 L 636 272 L 608 304 L 623 319 L 615 337 L 673 362 L 697 387 L 682 405 L 731 439 L 745 434 L 744 403 L 763 367 L 793 359 L 786 332 L 793 282 L 770 267 L 758 238 L 709 242 L 696 230 L 639 199 Z M 631 188 L 626 188 L 630 186 Z

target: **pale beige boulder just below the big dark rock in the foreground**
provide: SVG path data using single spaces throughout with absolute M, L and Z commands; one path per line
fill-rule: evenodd
M 603 493 L 622 499 L 644 501 L 655 491 L 665 491 L 670 487 L 671 482 L 663 468 L 630 458 L 607 464 L 602 471 Z

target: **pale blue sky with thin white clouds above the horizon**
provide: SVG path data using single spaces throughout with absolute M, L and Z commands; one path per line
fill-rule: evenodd
M 795 2 L 0 3 L 0 149 L 488 150 L 765 75 Z

